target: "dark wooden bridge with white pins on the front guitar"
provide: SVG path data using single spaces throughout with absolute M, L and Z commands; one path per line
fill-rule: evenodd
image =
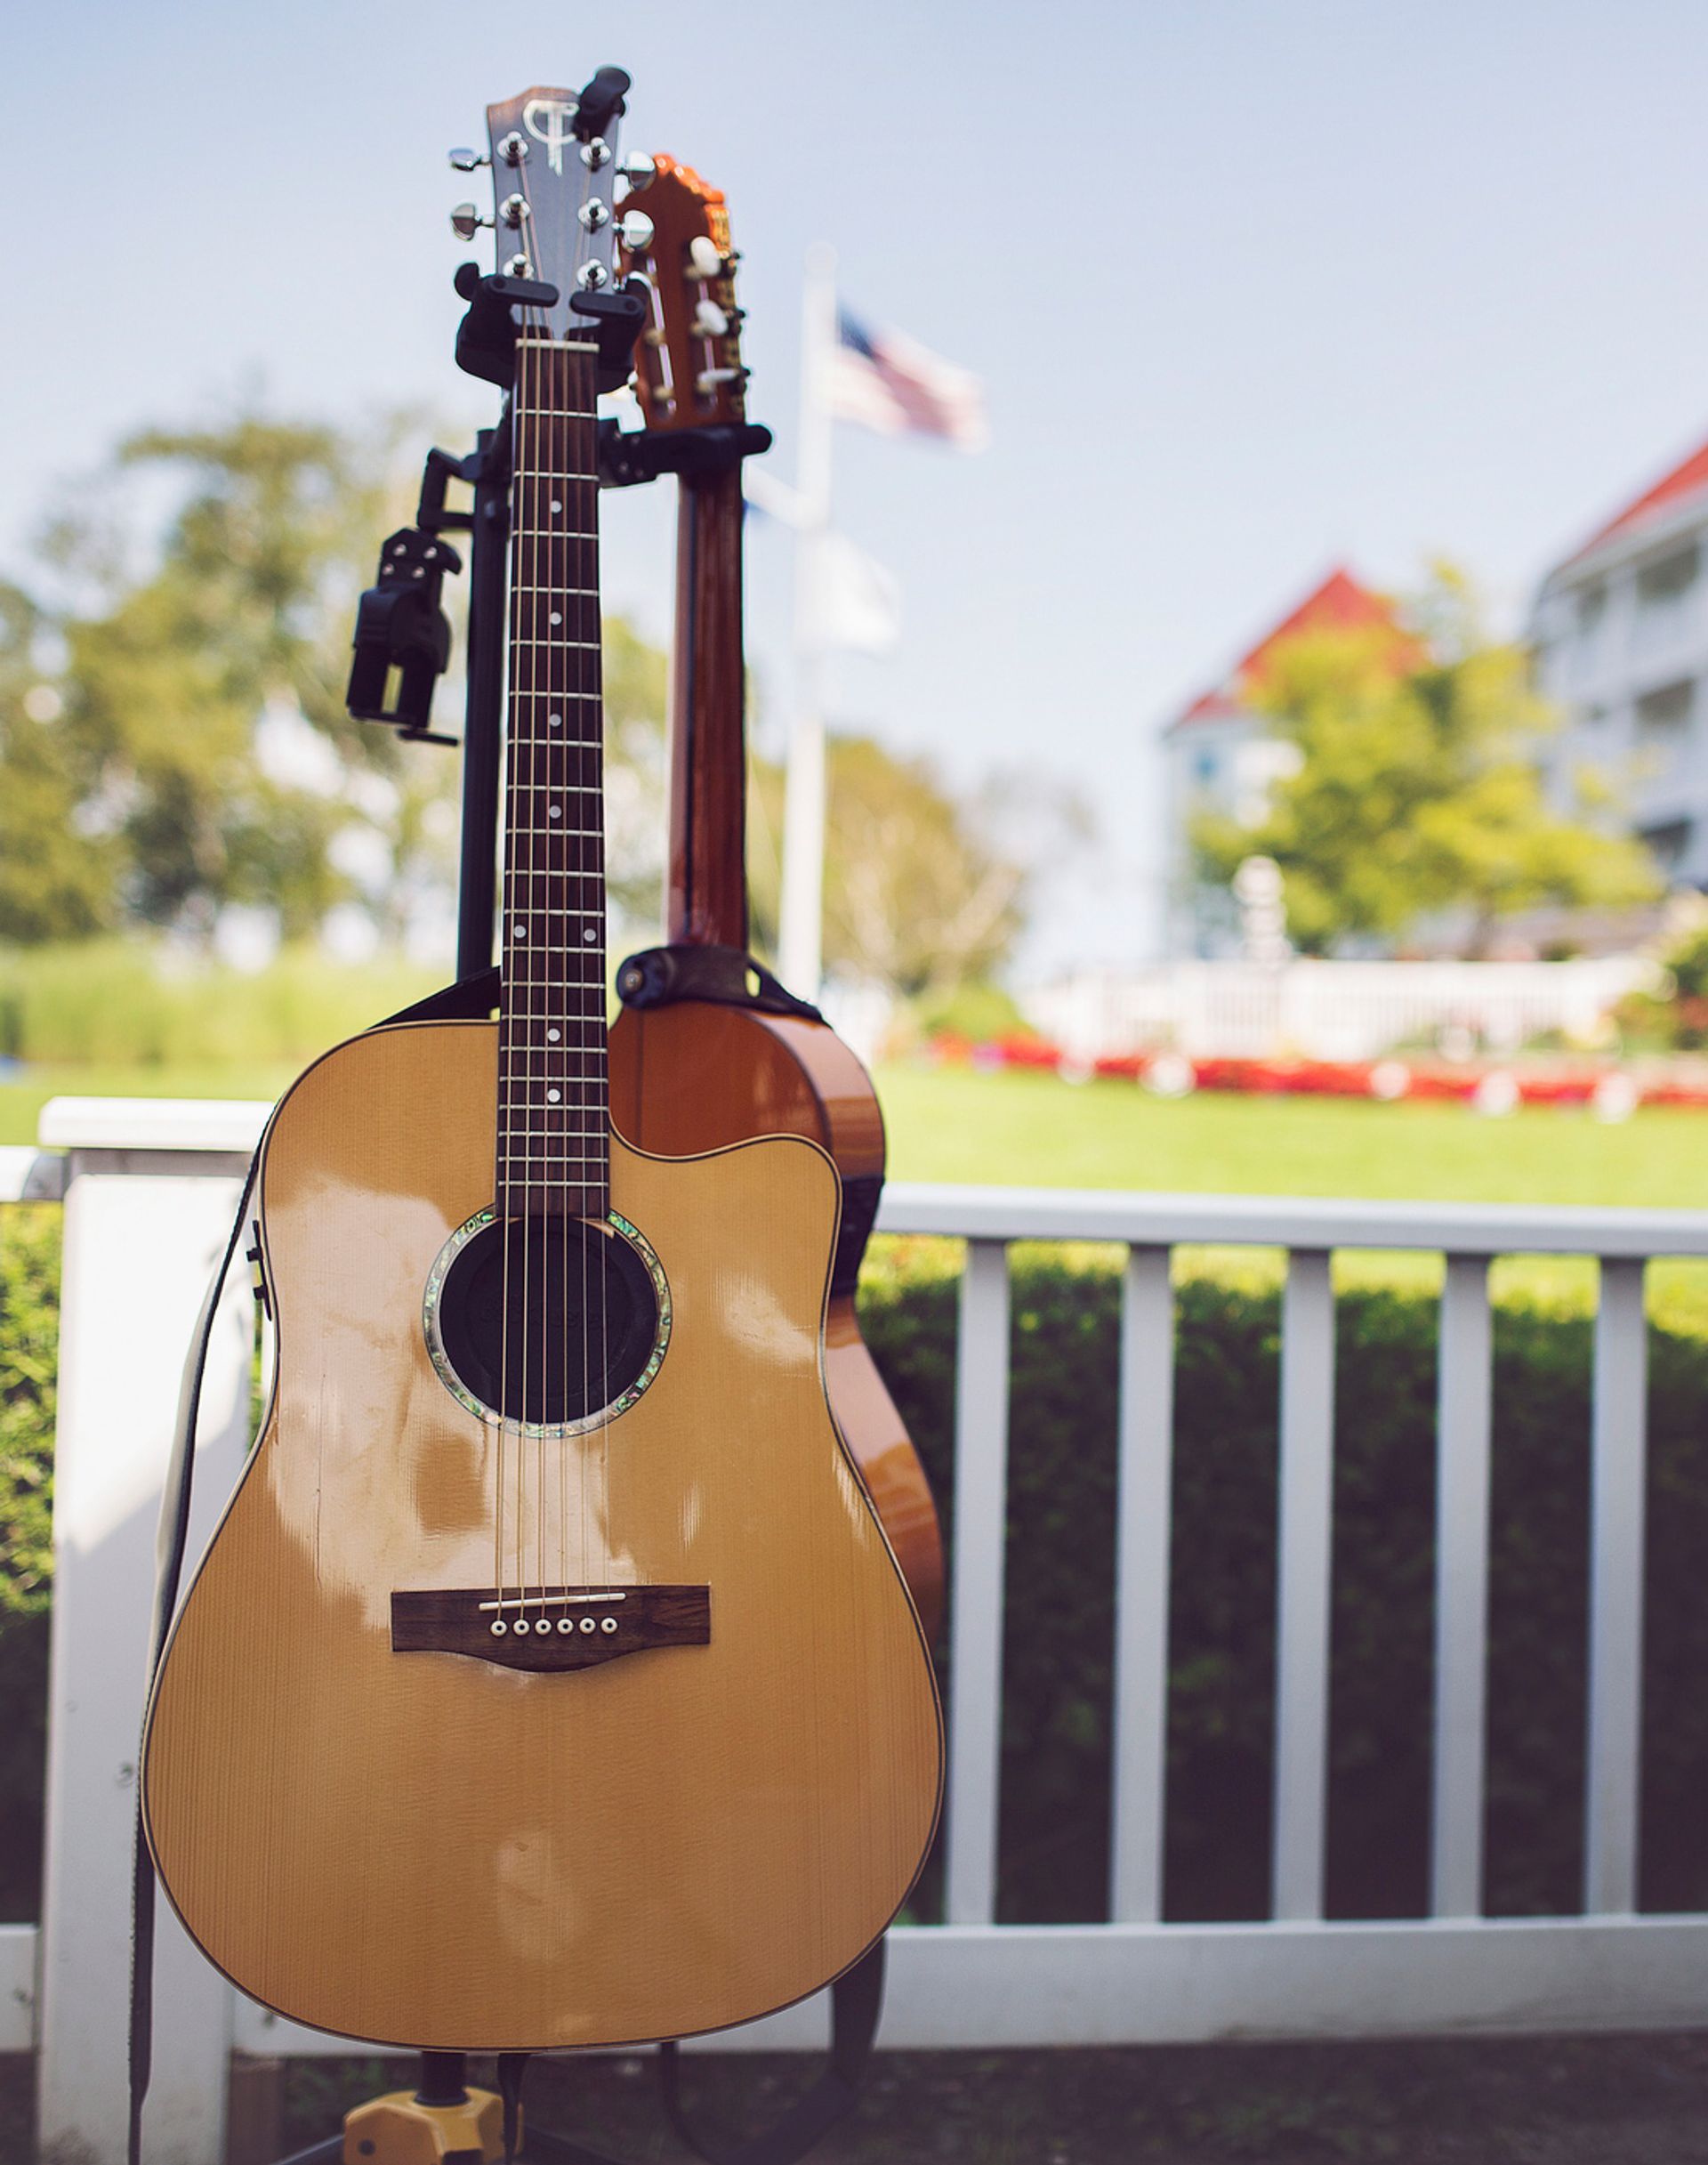
M 712 1643 L 710 1587 L 448 1587 L 392 1593 L 394 1654 L 468 1654 L 500 1669 L 591 1669 Z

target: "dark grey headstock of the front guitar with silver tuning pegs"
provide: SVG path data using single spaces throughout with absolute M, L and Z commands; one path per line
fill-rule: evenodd
M 608 292 L 617 284 L 623 225 L 615 191 L 619 178 L 636 182 L 636 171 L 626 173 L 617 158 L 626 93 L 621 67 L 602 67 L 582 91 L 535 87 L 487 106 L 485 156 L 470 149 L 450 154 L 457 171 L 491 167 L 494 180 L 491 216 L 481 216 L 474 204 L 459 204 L 450 214 L 452 232 L 472 240 L 478 227 L 494 227 L 496 268 L 504 277 L 556 286 L 552 307 L 528 310 L 535 327 L 554 338 L 578 320 L 587 323 L 571 314 L 574 294 Z

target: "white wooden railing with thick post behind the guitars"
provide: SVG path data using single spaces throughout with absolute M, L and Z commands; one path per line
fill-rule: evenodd
M 178 1366 L 260 1106 L 58 1100 L 0 1152 L 0 1202 L 65 1199 L 48 1871 L 41 1929 L 0 1929 L 0 2050 L 39 2050 L 43 2156 L 123 2156 L 130 1814 L 154 1516 Z M 965 1238 L 955 1399 L 946 1923 L 894 1933 L 892 2046 L 1641 2029 L 1702 2022 L 1708 1918 L 1637 1916 L 1643 1267 L 1708 1256 L 1708 1215 L 1024 1189 L 890 1189 L 881 1228 Z M 1108 1241 L 1121 1295 L 1111 1923 L 996 1914 L 1011 1241 Z M 1182 1243 L 1286 1251 L 1273 1916 L 1160 1920 L 1173 1286 Z M 1336 1249 L 1446 1256 L 1437 1422 L 1431 1916 L 1325 1923 Z M 1489 1260 L 1600 1260 L 1582 1916 L 1481 1918 L 1492 1446 Z M 242 1459 L 253 1318 L 227 1301 L 199 1528 Z M 1015 1438 L 1026 1448 L 1026 1438 Z M 805 2046 L 823 2007 L 725 2039 Z M 234 1994 L 162 1918 L 149 2165 L 221 2156 L 232 2052 L 338 2052 Z

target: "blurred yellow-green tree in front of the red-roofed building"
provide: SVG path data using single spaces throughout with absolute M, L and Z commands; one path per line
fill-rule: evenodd
M 1193 823 L 1197 875 L 1225 885 L 1273 857 L 1295 946 L 1394 940 L 1420 918 L 1468 914 L 1472 948 L 1543 903 L 1617 907 L 1656 892 L 1645 851 L 1595 821 L 1606 786 L 1578 775 L 1576 816 L 1548 803 L 1539 753 L 1559 717 L 1520 647 L 1489 643 L 1463 582 L 1437 572 L 1411 608 L 1416 658 L 1390 632 L 1301 632 L 1253 704 L 1299 764 L 1256 825 Z

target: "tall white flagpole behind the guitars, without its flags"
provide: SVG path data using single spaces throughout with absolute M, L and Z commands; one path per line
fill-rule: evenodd
M 820 550 L 831 524 L 831 409 L 825 381 L 836 353 L 836 251 L 807 251 L 801 294 L 801 448 L 794 470 L 794 717 L 784 777 L 784 883 L 777 974 L 803 1000 L 825 974 L 825 630 L 818 621 Z

